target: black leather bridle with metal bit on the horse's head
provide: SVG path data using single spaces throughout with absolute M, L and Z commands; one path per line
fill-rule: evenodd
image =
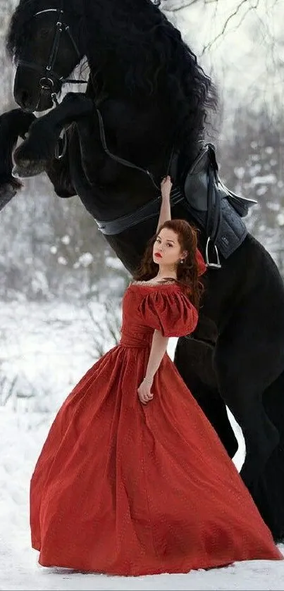
M 54 106 L 58 105 L 58 99 L 56 96 L 56 92 L 54 91 L 54 81 L 56 80 L 61 85 L 65 84 L 66 82 L 70 84 L 87 84 L 86 80 L 73 80 L 70 78 L 64 78 L 63 76 L 58 75 L 54 70 L 54 64 L 56 62 L 56 58 L 58 56 L 59 45 L 61 42 L 61 38 L 64 33 L 68 35 L 71 43 L 73 44 L 73 48 L 75 49 L 75 53 L 77 54 L 79 60 L 82 58 L 80 51 L 78 49 L 78 45 L 75 42 L 75 39 L 70 31 L 69 25 L 64 22 L 64 10 L 63 10 L 63 0 L 61 0 L 60 8 L 45 8 L 42 11 L 38 11 L 32 18 L 36 18 L 37 16 L 44 14 L 44 13 L 55 13 L 57 15 L 57 22 L 56 22 L 56 30 L 54 34 L 54 41 L 51 47 L 51 52 L 49 55 L 49 60 L 47 62 L 47 66 L 39 66 L 37 63 L 32 61 L 26 60 L 19 60 L 19 66 L 25 66 L 26 68 L 30 68 L 32 70 L 36 70 L 37 72 L 42 74 L 42 78 L 39 80 L 40 85 L 40 92 L 50 92 L 51 99 L 54 103 Z

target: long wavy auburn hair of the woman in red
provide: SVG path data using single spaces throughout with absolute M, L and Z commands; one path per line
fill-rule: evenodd
M 204 286 L 199 280 L 201 273 L 197 258 L 197 230 L 192 228 L 185 220 L 168 220 L 160 226 L 156 234 L 147 243 L 144 256 L 133 278 L 135 281 L 149 281 L 156 277 L 159 271 L 159 265 L 153 261 L 153 247 L 156 237 L 163 228 L 173 230 L 178 237 L 181 251 L 187 251 L 187 256 L 183 259 L 184 262 L 177 263 L 176 280 L 172 278 L 171 280 L 178 282 L 183 287 L 183 291 L 190 298 L 192 304 L 199 309 Z

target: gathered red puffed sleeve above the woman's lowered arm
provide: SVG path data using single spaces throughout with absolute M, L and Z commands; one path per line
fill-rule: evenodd
M 181 290 L 157 288 L 144 296 L 140 313 L 145 325 L 160 330 L 163 337 L 184 337 L 195 330 L 197 309 Z

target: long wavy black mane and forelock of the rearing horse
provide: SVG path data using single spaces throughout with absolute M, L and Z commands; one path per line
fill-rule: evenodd
M 6 42 L 11 57 L 25 42 L 23 23 L 40 8 L 54 6 L 59 0 L 20 0 Z M 99 63 L 105 77 L 118 64 L 121 86 L 133 100 L 163 100 L 171 105 L 180 139 L 202 137 L 206 115 L 216 107 L 214 85 L 178 29 L 151 0 L 66 0 L 66 11 L 76 15 L 77 26 L 78 17 L 84 16 L 91 70 Z

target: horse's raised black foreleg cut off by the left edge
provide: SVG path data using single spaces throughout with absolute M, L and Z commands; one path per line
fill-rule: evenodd
M 32 113 L 25 113 L 20 108 L 14 108 L 0 116 L 0 210 L 22 186 L 12 175 L 13 150 L 18 137 L 25 138 L 34 120 Z

